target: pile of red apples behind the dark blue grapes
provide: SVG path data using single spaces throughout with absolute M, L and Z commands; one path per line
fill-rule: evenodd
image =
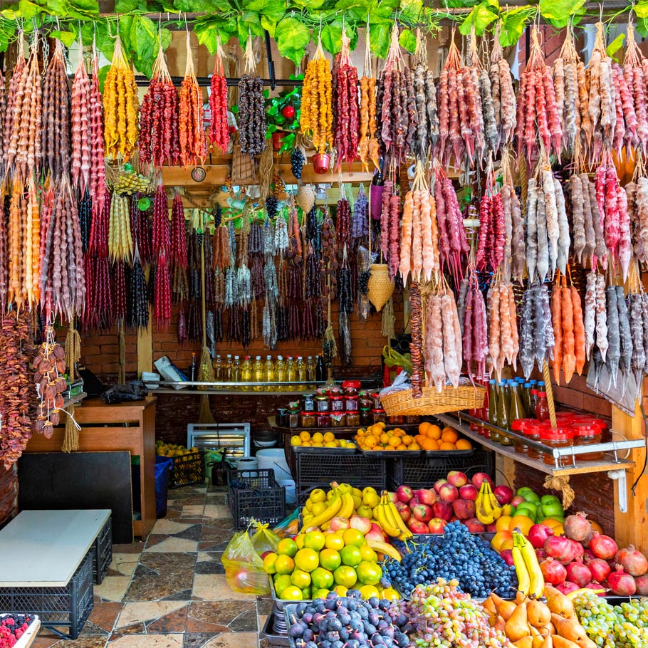
M 491 487 L 491 478 L 486 473 L 475 473 L 469 478 L 464 472 L 451 470 L 447 479 L 438 479 L 432 488 L 399 486 L 395 506 L 409 531 L 417 535 L 443 533 L 444 526 L 456 520 L 463 522 L 471 533 L 494 533 L 492 524 L 487 526 L 476 517 L 479 492 L 486 489 L 484 484 Z M 491 498 L 488 506 L 499 506 L 492 493 Z M 494 514 L 487 519 L 493 523 Z

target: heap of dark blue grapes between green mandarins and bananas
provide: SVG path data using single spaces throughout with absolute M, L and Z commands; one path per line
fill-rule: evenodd
M 485 598 L 492 591 L 512 596 L 515 570 L 503 561 L 488 542 L 470 533 L 459 521 L 447 524 L 443 535 L 408 545 L 402 560 L 385 560 L 384 569 L 402 594 L 411 596 L 417 585 L 437 578 L 456 579 L 461 591 Z

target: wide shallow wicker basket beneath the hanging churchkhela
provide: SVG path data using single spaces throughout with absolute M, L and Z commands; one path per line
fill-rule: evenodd
M 412 390 L 403 390 L 384 396 L 380 400 L 388 417 L 399 414 L 432 416 L 444 412 L 459 412 L 460 409 L 479 409 L 484 407 L 485 396 L 484 387 L 461 385 L 456 389 L 446 386 L 440 394 L 436 387 L 424 387 L 420 398 L 413 398 Z

